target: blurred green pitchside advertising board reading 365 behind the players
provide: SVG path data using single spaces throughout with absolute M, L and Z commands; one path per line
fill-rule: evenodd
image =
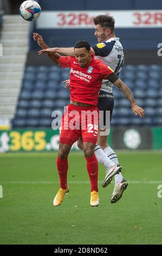
M 113 149 L 162 149 L 162 127 L 116 127 L 108 143 Z M 0 153 L 44 152 L 59 149 L 59 130 L 0 131 Z M 72 150 L 79 150 L 76 143 Z

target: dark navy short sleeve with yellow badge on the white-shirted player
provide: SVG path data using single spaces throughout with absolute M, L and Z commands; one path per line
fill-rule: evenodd
M 101 56 L 101 57 L 106 57 L 111 53 L 113 50 L 115 40 L 112 40 L 111 42 L 99 42 L 98 44 L 92 46 L 95 55 L 96 56 Z

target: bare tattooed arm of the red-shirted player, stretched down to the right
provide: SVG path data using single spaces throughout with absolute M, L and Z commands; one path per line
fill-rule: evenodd
M 131 103 L 133 113 L 135 115 L 138 114 L 140 117 L 144 117 L 145 116 L 145 111 L 144 111 L 143 108 L 141 108 L 137 105 L 129 87 L 124 82 L 122 82 L 119 78 L 118 78 L 118 80 L 116 80 L 114 82 L 114 86 L 120 88 L 122 93 L 125 95 L 126 99 L 128 99 L 128 101 Z

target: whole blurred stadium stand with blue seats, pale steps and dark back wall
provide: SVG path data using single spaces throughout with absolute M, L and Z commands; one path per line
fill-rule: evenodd
M 0 1 L 1 2 L 1 1 Z M 96 43 L 94 29 L 40 29 L 36 24 L 22 20 L 17 14 L 18 5 L 4 1 L 2 44 L 4 57 L 0 63 L 0 115 L 12 120 L 12 128 L 51 127 L 51 113 L 63 111 L 69 103 L 69 90 L 62 82 L 69 78 L 69 70 L 52 65 L 46 56 L 38 57 L 40 47 L 32 33 L 40 33 L 51 47 L 72 46 L 80 39 L 91 45 Z M 8 5 L 7 5 L 8 2 Z M 10 2 L 10 4 L 9 4 Z M 107 0 L 93 4 L 92 0 L 54 2 L 39 0 L 42 10 L 145 10 L 140 0 L 124 0 L 116 5 Z M 15 6 L 15 5 L 14 5 Z M 93 8 L 92 8 L 93 7 Z M 147 10 L 161 8 L 159 0 L 147 1 Z M 1 26 L 1 11 L 0 11 Z M 30 27 L 29 27 L 30 26 Z M 17 29 L 18 28 L 18 29 Z M 162 109 L 162 65 L 157 56 L 157 45 L 161 41 L 161 28 L 115 29 L 124 46 L 125 64 L 120 78 L 131 88 L 137 103 L 146 109 L 146 118 L 134 117 L 129 102 L 116 87 L 113 89 L 115 107 L 112 125 L 161 125 Z M 66 40 L 65 40 L 66 39 Z M 26 62 L 26 63 L 25 63 Z M 12 79 L 10 79 L 12 77 Z

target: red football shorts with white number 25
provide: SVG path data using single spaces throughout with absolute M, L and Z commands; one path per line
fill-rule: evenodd
M 98 127 L 98 107 L 78 107 L 69 104 L 61 121 L 60 143 L 73 145 L 81 135 L 83 142 L 96 144 Z

